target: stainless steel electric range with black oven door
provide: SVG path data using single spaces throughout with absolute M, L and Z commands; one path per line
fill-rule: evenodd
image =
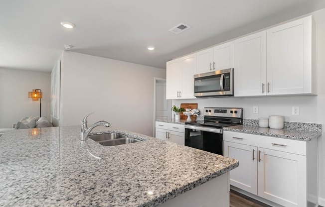
M 223 155 L 222 127 L 243 124 L 243 109 L 205 107 L 203 115 L 203 121 L 185 122 L 185 146 Z

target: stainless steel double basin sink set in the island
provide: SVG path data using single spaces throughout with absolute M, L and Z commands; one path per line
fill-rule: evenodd
M 116 146 L 121 144 L 142 142 L 138 139 L 134 139 L 120 133 L 96 134 L 89 135 L 88 137 L 103 146 Z

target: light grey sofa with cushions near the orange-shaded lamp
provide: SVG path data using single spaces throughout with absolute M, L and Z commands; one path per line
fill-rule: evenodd
M 12 128 L 0 128 L 0 136 L 7 131 L 15 129 L 44 128 L 52 127 L 52 123 L 45 116 L 30 116 L 20 119 L 17 123 L 12 124 Z

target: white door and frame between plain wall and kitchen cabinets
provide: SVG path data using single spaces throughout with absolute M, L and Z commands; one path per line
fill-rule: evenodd
M 171 119 L 171 100 L 166 100 L 166 79 L 155 79 L 154 121 L 157 119 Z M 154 124 L 154 134 L 155 134 Z

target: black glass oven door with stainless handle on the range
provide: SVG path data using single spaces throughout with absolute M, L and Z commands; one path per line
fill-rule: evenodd
M 223 155 L 222 129 L 185 125 L 185 146 Z

